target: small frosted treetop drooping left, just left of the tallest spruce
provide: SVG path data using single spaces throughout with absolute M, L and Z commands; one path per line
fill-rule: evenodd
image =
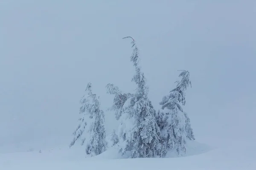
M 130 93 L 122 94 L 122 92 L 119 90 L 119 88 L 114 86 L 113 84 L 106 85 L 106 88 L 107 88 L 108 94 L 115 95 L 114 100 L 113 100 L 113 105 L 109 110 L 114 111 L 116 120 L 119 120 L 120 116 L 122 115 L 124 103 L 126 102 L 126 100 L 128 98 L 133 96 L 133 94 L 130 94 Z

